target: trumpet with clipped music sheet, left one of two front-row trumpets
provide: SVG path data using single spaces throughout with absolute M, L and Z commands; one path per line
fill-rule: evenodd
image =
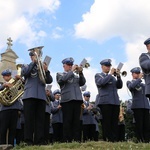
M 81 63 L 80 63 L 80 65 L 78 66 L 78 65 L 76 65 L 76 69 L 75 69 L 75 73 L 76 74 L 79 74 L 79 72 L 82 72 L 83 71 L 83 68 L 88 68 L 88 67 L 90 67 L 90 64 L 87 62 L 87 60 L 84 58 L 82 61 L 81 61 Z

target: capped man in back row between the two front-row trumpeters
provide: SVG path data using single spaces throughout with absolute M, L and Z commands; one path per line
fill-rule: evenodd
M 90 92 L 86 91 L 83 93 L 83 103 L 84 103 L 84 109 L 83 109 L 83 115 L 82 115 L 82 120 L 83 120 L 83 142 L 88 141 L 88 140 L 94 140 L 94 135 L 95 135 L 95 118 L 94 114 L 92 112 L 93 105 L 89 102 L 90 100 Z

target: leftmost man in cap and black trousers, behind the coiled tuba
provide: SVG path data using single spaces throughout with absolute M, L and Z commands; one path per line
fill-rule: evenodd
M 4 90 L 5 88 L 12 87 L 12 84 L 9 81 L 12 79 L 11 70 L 4 70 L 1 75 L 5 82 L 0 86 L 0 90 Z M 16 135 L 16 127 L 18 120 L 18 111 L 20 109 L 19 101 L 15 101 L 10 106 L 5 106 L 3 104 L 1 108 L 1 128 L 0 128 L 0 143 L 6 144 L 7 139 L 7 131 L 8 132 L 8 144 L 14 146 L 14 139 Z

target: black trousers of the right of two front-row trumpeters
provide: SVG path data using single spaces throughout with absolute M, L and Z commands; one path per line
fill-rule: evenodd
M 103 116 L 103 133 L 106 141 L 115 142 L 118 141 L 118 117 L 120 106 L 105 104 L 100 105 L 100 109 Z

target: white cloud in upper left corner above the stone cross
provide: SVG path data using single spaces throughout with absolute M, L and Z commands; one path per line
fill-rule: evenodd
M 54 13 L 59 5 L 59 0 L 1 0 L 0 48 L 4 47 L 8 37 L 14 41 L 19 40 L 28 47 L 45 37 L 44 29 L 39 29 L 43 24 L 42 18 L 39 20 L 37 15 L 42 12 Z

